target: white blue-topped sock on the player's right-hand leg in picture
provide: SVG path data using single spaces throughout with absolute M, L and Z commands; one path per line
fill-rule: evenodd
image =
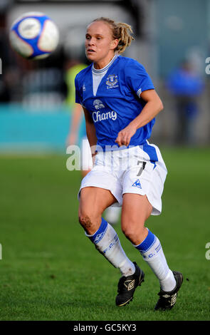
M 148 235 L 142 243 L 135 245 L 142 257 L 159 279 L 159 284 L 164 292 L 170 292 L 176 287 L 176 280 L 172 270 L 169 269 L 164 257 L 159 239 L 148 230 Z

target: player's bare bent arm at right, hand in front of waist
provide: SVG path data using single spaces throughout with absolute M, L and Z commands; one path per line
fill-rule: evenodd
M 147 125 L 163 109 L 162 100 L 154 89 L 143 91 L 141 98 L 146 102 L 145 107 L 127 127 L 118 133 L 115 142 L 120 146 L 129 145 L 130 139 L 135 135 L 137 129 Z

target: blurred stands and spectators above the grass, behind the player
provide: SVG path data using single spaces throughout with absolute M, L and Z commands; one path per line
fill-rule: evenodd
M 56 52 L 40 61 L 27 61 L 9 46 L 12 22 L 28 11 L 47 14 L 60 32 Z M 65 153 L 70 68 L 87 62 L 85 28 L 98 16 L 134 30 L 125 56 L 145 66 L 164 103 L 150 142 L 209 145 L 209 0 L 0 0 L 0 152 Z

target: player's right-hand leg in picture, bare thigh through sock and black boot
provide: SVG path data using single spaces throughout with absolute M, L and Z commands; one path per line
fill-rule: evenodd
M 160 298 L 155 309 L 171 309 L 182 285 L 182 274 L 169 269 L 159 239 L 145 227 L 151 212 L 152 205 L 146 195 L 126 193 L 123 196 L 122 231 L 159 279 Z

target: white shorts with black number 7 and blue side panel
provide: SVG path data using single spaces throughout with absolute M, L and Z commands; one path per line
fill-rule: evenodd
M 166 176 L 167 168 L 159 148 L 147 142 L 146 148 L 137 145 L 123 150 L 99 152 L 93 169 L 83 178 L 80 190 L 90 186 L 110 190 L 117 200 L 112 206 L 122 206 L 122 195 L 125 193 L 147 195 L 152 205 L 152 215 L 159 215 Z

